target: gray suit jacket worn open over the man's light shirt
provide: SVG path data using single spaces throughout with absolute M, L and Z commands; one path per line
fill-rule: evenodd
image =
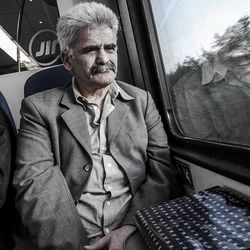
M 133 97 L 117 97 L 108 117 L 109 150 L 126 173 L 133 195 L 123 224 L 139 208 L 178 193 L 167 136 L 150 94 L 118 82 Z M 87 244 L 75 204 L 92 167 L 88 127 L 72 86 L 23 100 L 14 185 L 16 204 L 39 249 L 82 249 Z

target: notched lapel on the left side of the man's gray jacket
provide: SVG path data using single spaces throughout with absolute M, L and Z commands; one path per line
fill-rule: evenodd
M 64 113 L 61 114 L 62 119 L 64 120 L 74 137 L 79 141 L 79 143 L 91 157 L 91 142 L 87 119 L 84 114 L 83 107 L 77 104 L 74 99 L 71 85 L 66 89 L 61 100 L 61 105 L 68 108 Z

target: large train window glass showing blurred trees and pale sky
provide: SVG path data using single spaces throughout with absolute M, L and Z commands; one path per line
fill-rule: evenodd
M 185 136 L 250 145 L 249 0 L 151 0 Z

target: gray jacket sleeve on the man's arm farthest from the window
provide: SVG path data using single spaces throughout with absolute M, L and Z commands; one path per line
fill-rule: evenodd
M 23 101 L 14 174 L 16 206 L 38 249 L 82 249 L 85 232 L 40 113 L 31 101 Z

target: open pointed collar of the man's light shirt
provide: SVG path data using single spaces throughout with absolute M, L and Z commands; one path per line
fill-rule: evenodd
M 79 104 L 89 104 L 89 101 L 87 100 L 86 97 L 84 97 L 78 87 L 77 87 L 77 84 L 76 84 L 76 81 L 75 81 L 75 77 L 72 78 L 72 87 L 73 87 L 73 92 L 74 92 L 74 96 L 75 96 L 75 99 L 76 101 L 79 103 Z M 109 87 L 109 91 L 108 93 L 110 94 L 111 96 L 111 100 L 114 101 L 118 95 L 121 96 L 122 99 L 124 99 L 125 101 L 130 101 L 130 100 L 133 100 L 134 97 L 130 96 L 128 93 L 126 93 L 118 84 L 116 81 L 112 82 L 110 84 L 110 87 Z

